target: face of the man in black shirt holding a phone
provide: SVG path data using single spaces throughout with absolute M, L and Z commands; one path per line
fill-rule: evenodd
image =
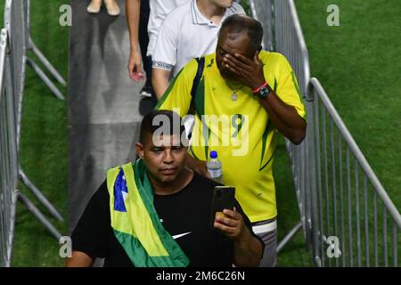
M 135 147 L 151 178 L 157 183 L 174 183 L 183 173 L 187 149 L 180 143 L 178 135 L 152 137 L 148 134 L 143 144 L 137 142 Z

